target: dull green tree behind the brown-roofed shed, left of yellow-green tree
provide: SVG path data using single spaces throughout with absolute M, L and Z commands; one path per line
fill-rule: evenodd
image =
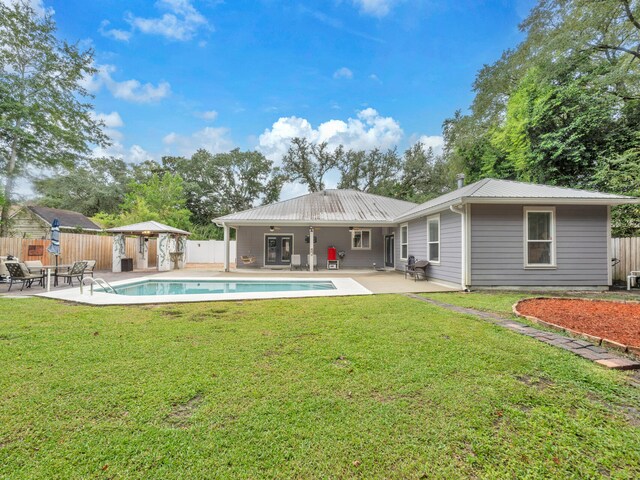
M 131 167 L 116 158 L 96 158 L 81 166 L 34 181 L 39 203 L 88 217 L 117 213 L 133 180 Z

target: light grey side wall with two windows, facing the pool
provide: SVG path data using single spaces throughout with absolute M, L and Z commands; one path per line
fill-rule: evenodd
M 444 280 L 455 284 L 462 281 L 462 219 L 451 210 L 440 214 L 440 264 L 429 265 L 431 280 Z M 400 227 L 396 229 L 396 269 L 404 270 L 406 260 L 400 260 Z M 409 222 L 409 255 L 416 260 L 427 259 L 427 217 Z

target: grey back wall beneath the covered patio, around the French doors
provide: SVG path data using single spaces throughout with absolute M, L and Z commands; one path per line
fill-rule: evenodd
M 279 226 L 278 228 L 279 230 L 275 232 L 269 232 L 269 227 L 238 227 L 236 231 L 237 258 L 235 259 L 237 268 L 264 266 L 264 237 L 269 233 L 293 235 L 292 253 L 300 254 L 302 264 L 306 265 L 309 244 L 304 239 L 309 235 L 309 228 L 287 226 Z M 386 231 L 386 228 L 372 227 L 371 250 L 351 250 L 351 232 L 348 227 L 316 227 L 314 235 L 318 241 L 314 245 L 314 252 L 318 258 L 318 268 L 327 268 L 327 248 L 331 245 L 335 246 L 338 251 L 344 250 L 346 252 L 346 256 L 340 261 L 340 268 L 373 268 L 374 262 L 377 266 L 384 266 L 384 232 Z M 240 261 L 242 255 L 255 255 L 256 263 L 243 265 Z M 233 261 L 233 257 L 231 260 Z

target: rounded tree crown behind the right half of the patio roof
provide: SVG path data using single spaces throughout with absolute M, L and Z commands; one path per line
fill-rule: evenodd
M 395 149 L 349 150 L 337 168 L 341 174 L 338 188 L 390 195 L 398 181 L 402 160 Z

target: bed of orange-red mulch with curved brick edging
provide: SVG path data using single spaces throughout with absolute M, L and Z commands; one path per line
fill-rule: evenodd
M 520 302 L 518 311 L 577 332 L 640 346 L 640 303 L 535 298 Z

